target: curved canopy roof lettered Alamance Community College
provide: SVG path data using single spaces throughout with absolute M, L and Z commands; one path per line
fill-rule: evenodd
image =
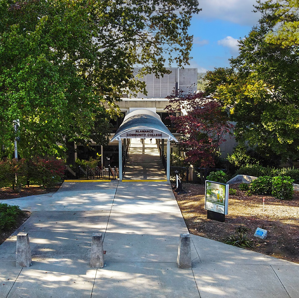
M 178 142 L 162 122 L 160 116 L 150 110 L 135 110 L 126 115 L 111 142 L 119 139 L 170 139 Z

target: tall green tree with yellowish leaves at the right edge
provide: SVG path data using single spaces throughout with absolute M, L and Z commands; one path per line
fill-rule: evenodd
M 268 163 L 291 163 L 299 158 L 298 45 L 270 39 L 280 30 L 269 21 L 276 15 L 270 2 L 256 7 L 262 13 L 260 24 L 239 41 L 231 68 L 206 75 L 206 92 L 230 108 L 240 143 L 248 142 Z

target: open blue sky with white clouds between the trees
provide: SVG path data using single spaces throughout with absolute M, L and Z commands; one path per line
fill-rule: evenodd
M 243 39 L 258 24 L 255 0 L 199 0 L 202 11 L 194 15 L 189 28 L 193 48 L 189 68 L 198 72 L 229 67 L 229 59 L 238 56 L 238 39 Z

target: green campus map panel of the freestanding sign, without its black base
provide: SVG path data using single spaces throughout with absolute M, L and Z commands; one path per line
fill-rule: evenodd
M 206 210 L 227 214 L 229 184 L 206 180 Z

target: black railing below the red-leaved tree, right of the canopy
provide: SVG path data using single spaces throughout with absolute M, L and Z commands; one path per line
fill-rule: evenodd
M 204 184 L 210 172 L 215 171 L 226 172 L 225 169 L 214 168 L 170 167 L 170 180 L 176 180 L 176 175 L 178 175 L 182 182 Z

